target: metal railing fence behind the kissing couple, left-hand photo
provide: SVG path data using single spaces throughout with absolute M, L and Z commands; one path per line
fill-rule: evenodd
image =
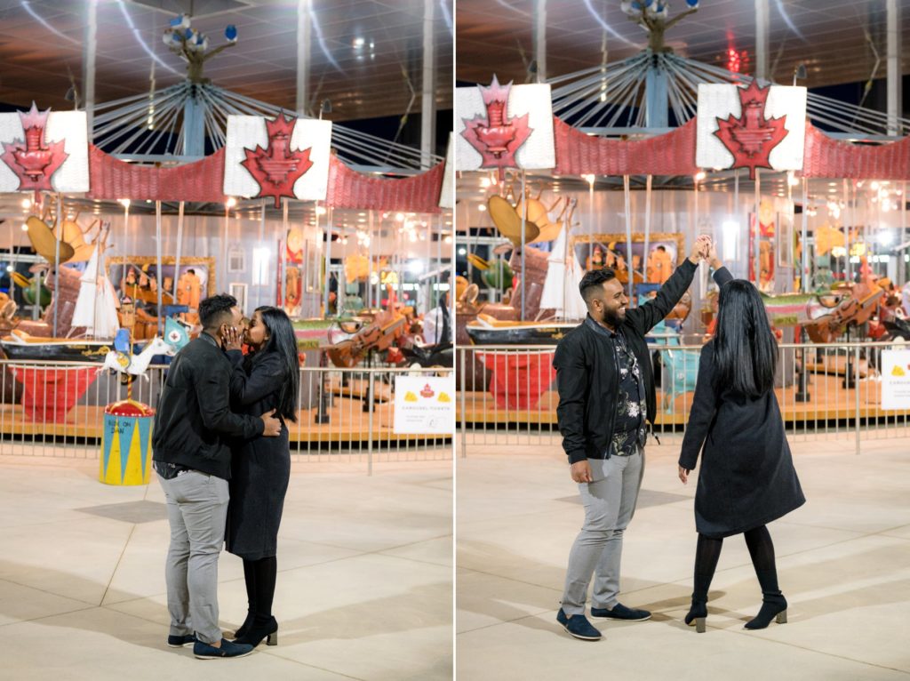
M 153 365 L 131 389 L 96 363 L 0 360 L 0 453 L 95 459 L 107 404 L 153 408 L 167 366 Z M 444 461 L 449 435 L 394 432 L 400 375 L 448 376 L 451 369 L 301 367 L 298 421 L 288 422 L 292 459 L 321 462 Z

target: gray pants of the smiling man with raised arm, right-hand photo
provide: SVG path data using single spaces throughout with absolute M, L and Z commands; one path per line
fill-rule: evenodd
M 594 575 L 591 607 L 612 608 L 620 592 L 622 534 L 635 513 L 644 474 L 644 450 L 632 456 L 588 459 L 591 483 L 579 483 L 584 525 L 572 544 L 562 611 L 584 615 Z

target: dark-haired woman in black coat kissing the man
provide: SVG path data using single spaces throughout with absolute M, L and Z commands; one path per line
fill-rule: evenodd
M 250 353 L 244 357 L 240 346 Z M 299 361 L 294 328 L 284 310 L 261 307 L 249 326 L 227 339 L 234 362 L 231 409 L 260 415 L 276 410 L 282 421 L 277 438 L 239 442 L 231 452 L 230 503 L 227 507 L 227 551 L 243 558 L 247 582 L 247 619 L 235 643 L 278 644 L 278 622 L 272 616 L 278 572 L 278 525 L 290 478 L 290 449 L 285 421 L 297 421 Z

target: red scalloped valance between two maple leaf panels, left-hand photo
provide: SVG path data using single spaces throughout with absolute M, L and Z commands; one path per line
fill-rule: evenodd
M 224 203 L 225 151 L 177 168 L 125 163 L 95 145 L 88 147 L 89 198 Z

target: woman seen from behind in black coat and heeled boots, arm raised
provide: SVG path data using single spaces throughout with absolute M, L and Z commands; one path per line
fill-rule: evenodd
M 692 413 L 682 440 L 679 477 L 688 480 L 702 451 L 695 492 L 695 577 L 687 625 L 703 633 L 708 587 L 723 537 L 743 534 L 762 609 L 746 623 L 763 629 L 776 616 L 786 622 L 787 602 L 777 587 L 774 547 L 766 523 L 805 503 L 774 395 L 777 342 L 762 299 L 748 281 L 721 269 L 717 332 L 702 349 Z

